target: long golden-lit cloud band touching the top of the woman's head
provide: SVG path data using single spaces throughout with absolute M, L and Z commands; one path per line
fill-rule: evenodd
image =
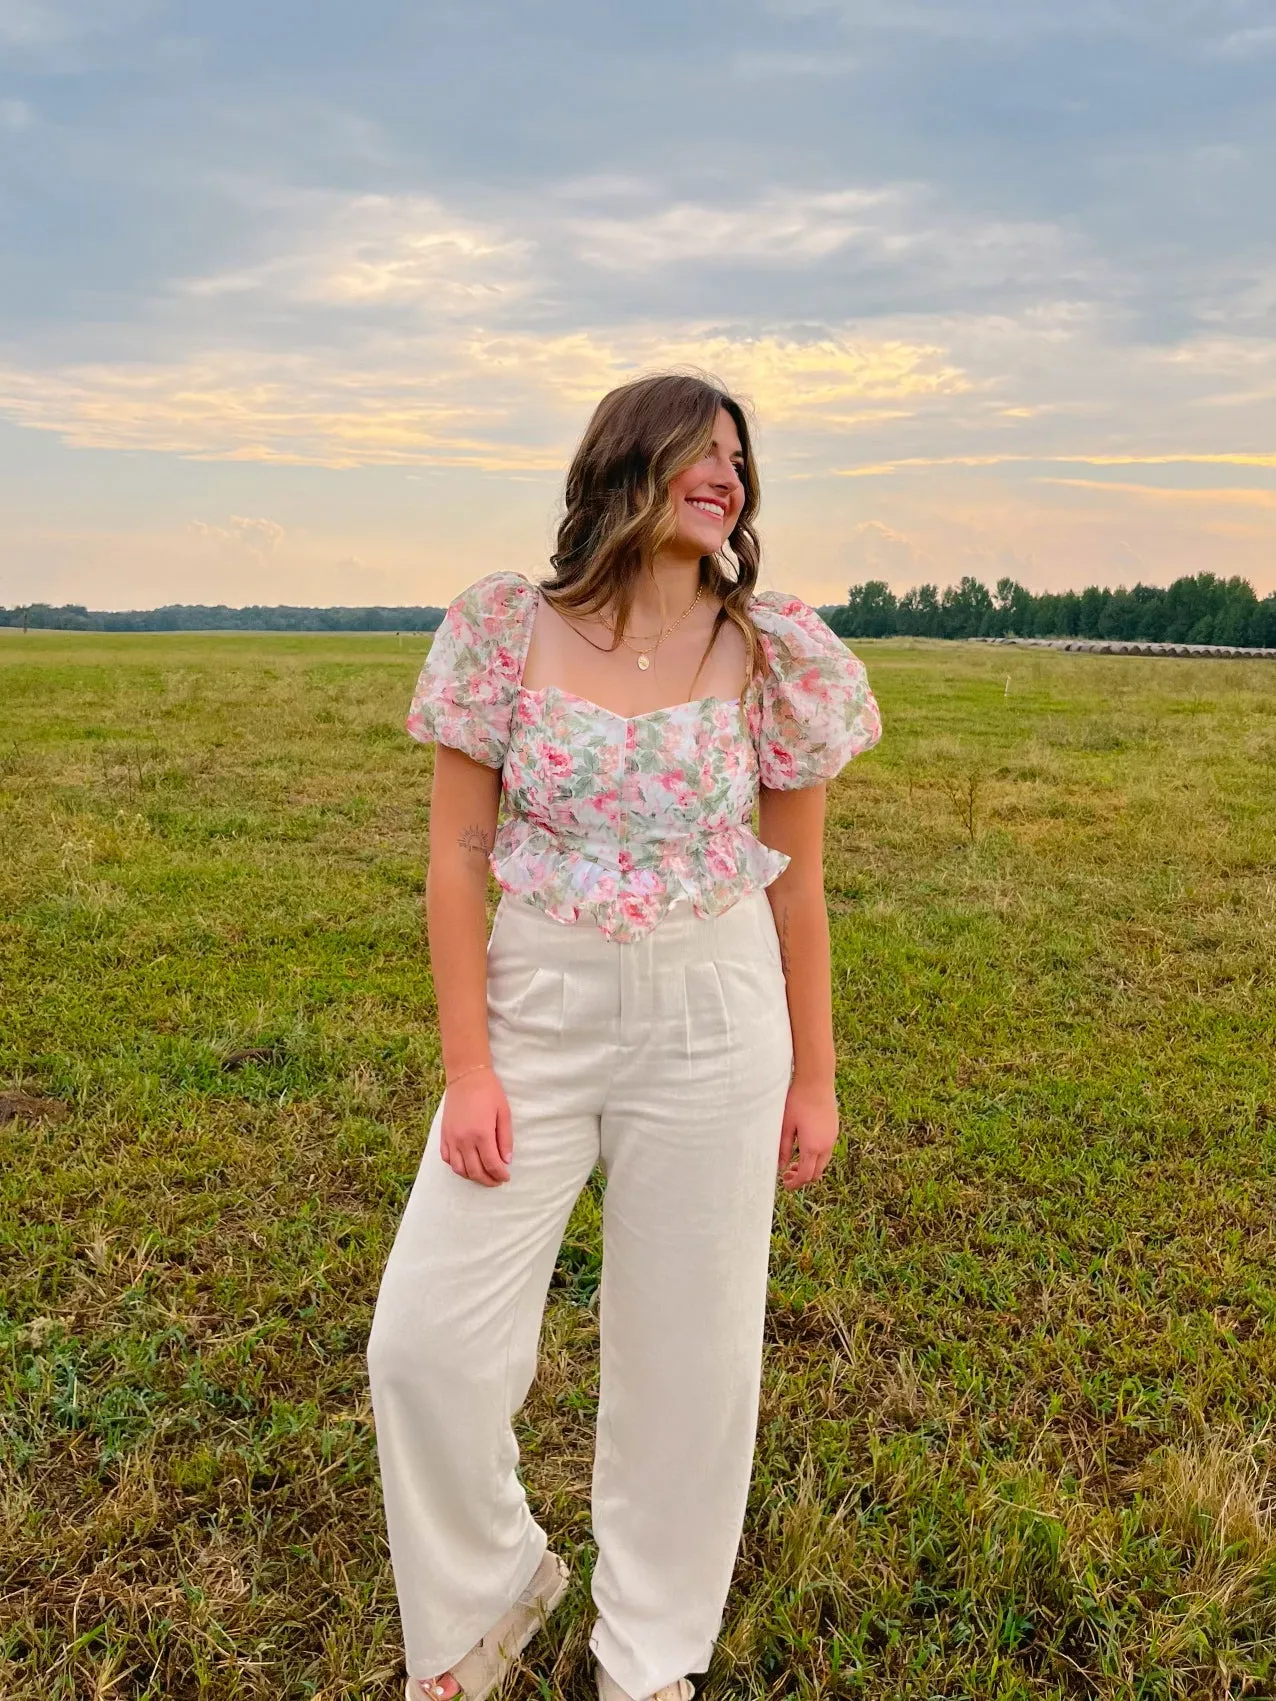
M 698 367 L 767 427 L 840 430 L 956 396 L 929 344 L 711 327 L 393 338 L 347 367 L 322 354 L 209 352 L 172 366 L 0 367 L 0 415 L 66 442 L 194 459 L 558 471 L 582 412 L 641 371 Z

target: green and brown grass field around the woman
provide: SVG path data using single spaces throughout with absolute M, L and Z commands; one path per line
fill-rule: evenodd
M 398 1698 L 362 1347 L 441 1089 L 419 640 L 0 633 L 0 1696 Z M 857 645 L 846 1141 L 709 1698 L 1276 1694 L 1276 665 Z M 597 1199 L 526 1475 L 592 1694 Z

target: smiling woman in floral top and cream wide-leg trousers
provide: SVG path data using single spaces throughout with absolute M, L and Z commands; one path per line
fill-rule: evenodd
M 553 577 L 464 590 L 412 704 L 446 1092 L 369 1340 L 410 1701 L 488 1694 L 567 1587 L 510 1417 L 595 1165 L 599 1694 L 691 1696 L 721 1624 L 776 1165 L 837 1140 L 823 782 L 881 735 L 861 663 L 755 592 L 757 495 L 730 396 L 614 390 Z

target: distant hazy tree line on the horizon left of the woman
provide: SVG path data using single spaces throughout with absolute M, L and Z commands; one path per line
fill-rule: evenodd
M 80 633 L 432 633 L 446 609 L 230 609 L 225 602 L 174 602 L 163 609 L 87 609 L 80 602 L 29 602 L 0 607 L 0 626 L 36 626 L 43 631 Z

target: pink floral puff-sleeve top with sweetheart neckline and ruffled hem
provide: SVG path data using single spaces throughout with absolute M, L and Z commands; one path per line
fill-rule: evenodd
M 754 597 L 767 672 L 742 697 L 628 718 L 522 686 L 538 602 L 521 573 L 463 590 L 407 728 L 502 771 L 492 873 L 555 920 L 585 917 L 628 944 L 684 898 L 720 915 L 788 866 L 752 832 L 759 786 L 820 784 L 881 737 L 864 665 L 800 597 Z

